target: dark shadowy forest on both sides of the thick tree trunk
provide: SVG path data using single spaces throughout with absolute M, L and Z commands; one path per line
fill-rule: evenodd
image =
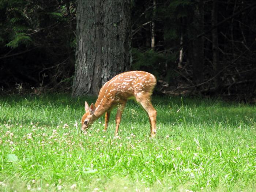
M 131 69 L 157 76 L 157 94 L 255 103 L 254 0 L 132 0 L 131 9 Z M 75 48 L 75 0 L 0 1 L 1 94 L 70 93 Z

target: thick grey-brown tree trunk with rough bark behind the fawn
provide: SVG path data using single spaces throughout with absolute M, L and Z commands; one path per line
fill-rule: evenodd
M 97 95 L 102 85 L 131 66 L 129 0 L 78 0 L 73 96 Z

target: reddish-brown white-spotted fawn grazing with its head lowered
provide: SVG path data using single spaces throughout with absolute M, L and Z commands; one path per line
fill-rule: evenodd
M 82 117 L 82 130 L 85 131 L 99 117 L 105 114 L 105 130 L 108 128 L 110 112 L 118 106 L 116 114 L 116 132 L 118 133 L 122 113 L 128 99 L 135 99 L 147 112 L 151 137 L 155 136 L 157 111 L 151 103 L 151 95 L 157 79 L 145 71 L 129 71 L 114 76 L 99 91 L 95 105 L 85 102 L 85 114 Z

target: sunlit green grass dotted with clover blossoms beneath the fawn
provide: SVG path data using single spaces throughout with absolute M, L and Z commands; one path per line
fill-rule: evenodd
M 95 98 L 0 98 L 0 191 L 255 191 L 255 106 L 153 97 L 151 139 L 129 101 L 115 138 L 116 110 L 107 132 L 104 117 L 80 132 L 85 100 Z

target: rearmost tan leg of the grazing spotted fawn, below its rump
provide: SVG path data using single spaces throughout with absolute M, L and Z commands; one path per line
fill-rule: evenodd
M 139 94 L 137 94 L 136 101 L 142 106 L 142 108 L 147 112 L 149 117 L 149 123 L 150 123 L 150 135 L 151 137 L 155 136 L 155 133 L 157 132 L 157 111 L 153 107 L 150 99 L 150 97 L 139 97 Z

